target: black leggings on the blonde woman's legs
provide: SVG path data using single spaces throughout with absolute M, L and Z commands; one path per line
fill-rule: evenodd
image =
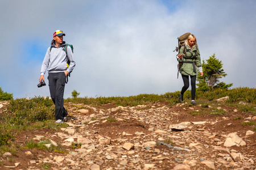
M 183 79 L 183 83 L 184 86 L 181 89 L 181 95 L 184 94 L 184 92 L 188 89 L 189 87 L 189 79 L 188 79 L 188 75 L 183 75 L 181 74 L 182 79 Z M 191 75 L 191 99 L 195 100 L 195 96 L 196 96 L 196 75 Z

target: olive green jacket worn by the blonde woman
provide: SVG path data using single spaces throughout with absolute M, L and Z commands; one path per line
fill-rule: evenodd
M 185 47 L 185 51 L 184 51 Z M 180 63 L 180 74 L 183 75 L 198 75 L 198 69 L 197 67 L 202 66 L 201 64 L 201 58 L 200 58 L 200 52 L 196 45 L 194 45 L 192 48 L 190 48 L 188 45 L 181 46 L 179 54 L 184 54 L 182 58 L 182 62 L 180 62 L 180 59 L 177 60 Z M 194 62 L 194 64 L 193 64 Z

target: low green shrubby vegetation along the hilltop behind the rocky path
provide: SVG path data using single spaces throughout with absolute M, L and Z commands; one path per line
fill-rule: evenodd
M 135 106 L 166 102 L 170 107 L 179 103 L 180 92 L 167 92 L 163 95 L 141 94 L 128 97 L 75 97 L 65 99 L 65 103 L 80 103 L 100 107 L 104 104 L 115 106 Z M 233 88 L 232 90 L 214 90 L 209 92 L 197 92 L 196 101 L 202 107 L 216 103 L 216 99 L 229 96 L 225 105 L 236 107 L 240 112 L 247 112 L 256 116 L 256 89 L 255 88 Z M 184 94 L 184 101 L 189 103 L 191 92 Z M 55 107 L 51 99 L 45 97 L 34 97 L 30 100 L 10 100 L 6 108 L 0 109 L 0 146 L 10 145 L 15 140 L 15 135 L 23 130 L 35 129 L 58 129 L 65 124 L 55 125 Z M 254 128 L 255 130 L 255 128 Z

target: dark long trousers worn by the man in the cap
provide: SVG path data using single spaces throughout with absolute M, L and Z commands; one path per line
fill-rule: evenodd
M 63 120 L 64 118 L 64 88 L 66 76 L 64 72 L 49 73 L 49 90 L 53 103 L 55 104 L 55 118 L 56 120 Z

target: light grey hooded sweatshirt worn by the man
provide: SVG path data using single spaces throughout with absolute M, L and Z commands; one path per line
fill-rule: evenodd
M 46 73 L 47 68 L 49 73 L 58 73 L 62 71 L 68 71 L 68 73 L 71 73 L 71 71 L 76 66 L 76 62 L 74 61 L 71 47 L 67 46 L 66 55 L 65 46 L 66 43 L 65 41 L 63 41 L 63 43 L 59 47 L 56 47 L 55 40 L 52 40 L 52 49 L 51 52 L 51 47 L 47 49 L 46 56 L 44 57 L 44 61 L 41 67 L 41 75 L 44 75 Z M 67 67 L 67 57 L 70 61 L 69 67 Z

